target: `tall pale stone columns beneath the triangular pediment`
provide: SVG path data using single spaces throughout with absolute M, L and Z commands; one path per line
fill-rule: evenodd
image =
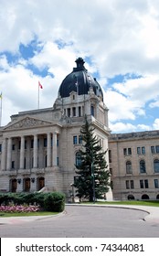
M 33 136 L 33 168 L 38 167 L 38 135 L 30 134 Z M 21 135 L 20 138 L 20 148 L 19 148 L 19 169 L 25 168 L 25 139 L 29 135 Z M 2 143 L 2 155 L 1 155 L 1 170 L 11 170 L 12 168 L 12 151 L 13 151 L 13 139 L 15 137 L 5 137 Z M 52 141 L 52 144 L 51 144 Z M 57 165 L 57 132 L 47 133 L 47 167 Z

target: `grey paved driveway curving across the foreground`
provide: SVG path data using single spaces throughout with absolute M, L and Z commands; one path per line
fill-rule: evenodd
M 159 238 L 159 221 L 144 221 L 147 213 L 130 208 L 66 206 L 66 212 L 41 219 L 10 219 L 1 238 Z

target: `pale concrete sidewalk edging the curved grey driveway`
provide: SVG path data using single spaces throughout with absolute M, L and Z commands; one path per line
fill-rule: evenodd
M 132 208 L 136 210 L 143 210 L 147 213 L 144 220 L 153 223 L 159 223 L 159 208 L 157 207 L 146 207 L 146 206 L 128 206 L 128 205 L 94 205 L 94 204 L 66 204 L 66 206 L 77 206 L 77 207 L 99 207 L 99 208 Z M 58 215 L 48 215 L 48 216 L 29 216 L 29 217 L 0 217 L 0 225 L 5 224 L 20 224 L 27 221 L 35 221 L 40 219 L 56 218 L 63 213 Z

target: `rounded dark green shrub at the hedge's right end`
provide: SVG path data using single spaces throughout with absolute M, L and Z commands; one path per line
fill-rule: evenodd
M 65 208 L 65 196 L 59 192 L 46 193 L 44 208 L 48 211 L 61 212 Z

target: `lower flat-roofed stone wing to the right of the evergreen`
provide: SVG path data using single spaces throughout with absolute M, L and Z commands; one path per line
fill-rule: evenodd
M 159 131 L 111 134 L 113 198 L 159 199 Z

